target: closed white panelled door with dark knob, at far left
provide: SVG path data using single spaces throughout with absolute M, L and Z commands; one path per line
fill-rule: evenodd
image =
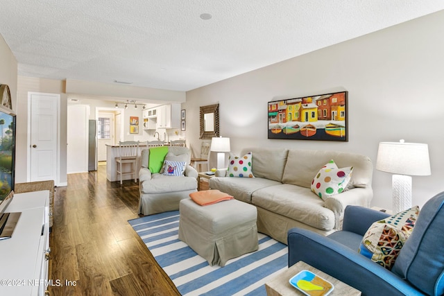
M 28 94 L 31 182 L 54 180 L 58 184 L 58 94 Z

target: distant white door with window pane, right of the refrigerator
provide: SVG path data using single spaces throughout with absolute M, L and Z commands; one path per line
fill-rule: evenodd
M 114 145 L 114 113 L 99 113 L 97 119 L 97 160 L 106 161 L 106 145 Z

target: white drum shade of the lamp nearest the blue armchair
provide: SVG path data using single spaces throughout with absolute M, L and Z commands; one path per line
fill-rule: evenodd
M 376 169 L 400 175 L 430 175 L 429 146 L 423 143 L 381 142 Z

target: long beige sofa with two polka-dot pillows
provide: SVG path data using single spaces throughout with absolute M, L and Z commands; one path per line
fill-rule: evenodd
M 257 229 L 287 243 L 292 227 L 330 234 L 339 229 L 348 204 L 368 207 L 373 198 L 373 164 L 369 157 L 332 150 L 247 148 L 239 156 L 253 153 L 255 177 L 227 177 L 216 171 L 210 188 L 233 195 L 257 207 Z M 348 190 L 322 200 L 310 189 L 318 171 L 331 159 L 339 168 L 353 166 Z

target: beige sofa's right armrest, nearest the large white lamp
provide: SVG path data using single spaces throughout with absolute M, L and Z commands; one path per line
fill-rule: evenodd
M 339 229 L 345 207 L 348 205 L 368 207 L 372 198 L 373 190 L 371 188 L 353 188 L 326 198 L 324 206 L 334 213 L 334 229 Z

